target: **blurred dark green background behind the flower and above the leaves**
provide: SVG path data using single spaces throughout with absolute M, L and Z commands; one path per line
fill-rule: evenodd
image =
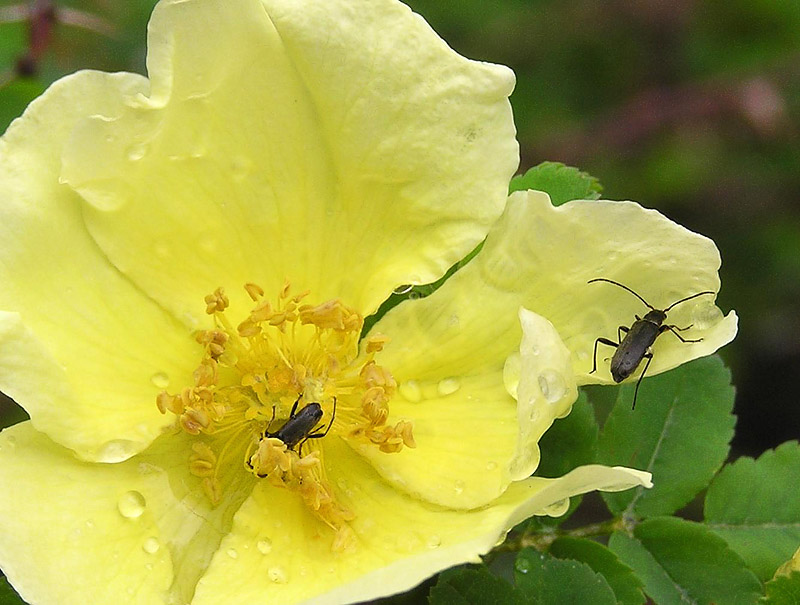
M 0 1 L 0 132 L 64 74 L 144 73 L 154 4 Z M 797 438 L 800 2 L 408 4 L 461 54 L 514 69 L 522 169 L 579 166 L 604 197 L 657 208 L 716 241 L 719 304 L 741 318 L 722 352 L 738 388 L 734 454 Z M 0 404 L 0 426 L 24 417 Z

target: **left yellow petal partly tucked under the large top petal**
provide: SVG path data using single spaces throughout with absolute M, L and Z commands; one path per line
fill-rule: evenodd
M 109 264 L 81 202 L 60 185 L 78 116 L 114 116 L 132 74 L 82 72 L 55 83 L 0 139 L 0 389 L 36 427 L 80 456 L 120 460 L 171 419 L 155 397 L 191 379 L 197 345 Z

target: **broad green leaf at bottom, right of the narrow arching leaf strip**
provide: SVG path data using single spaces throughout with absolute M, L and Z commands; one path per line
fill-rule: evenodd
M 761 584 L 739 555 L 700 523 L 648 519 L 632 537 L 612 534 L 608 546 L 644 580 L 645 592 L 659 605 L 739 605 L 761 596 Z

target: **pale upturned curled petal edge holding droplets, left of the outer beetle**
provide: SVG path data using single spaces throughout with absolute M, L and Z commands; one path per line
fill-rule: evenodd
M 533 474 L 539 466 L 539 439 L 556 418 L 569 414 L 578 398 L 570 352 L 553 324 L 526 309 L 520 309 L 519 319 L 522 343 L 516 391 L 519 438 L 511 463 L 514 480 Z

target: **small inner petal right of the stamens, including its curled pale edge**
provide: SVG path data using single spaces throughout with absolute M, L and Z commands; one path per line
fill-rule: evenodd
M 552 324 L 524 309 L 519 321 L 522 343 L 502 370 L 439 381 L 395 373 L 399 389 L 389 422 L 411 421 L 417 447 L 386 455 L 353 444 L 385 480 L 429 502 L 475 508 L 536 470 L 537 442 L 572 409 L 577 386 L 570 352 Z

